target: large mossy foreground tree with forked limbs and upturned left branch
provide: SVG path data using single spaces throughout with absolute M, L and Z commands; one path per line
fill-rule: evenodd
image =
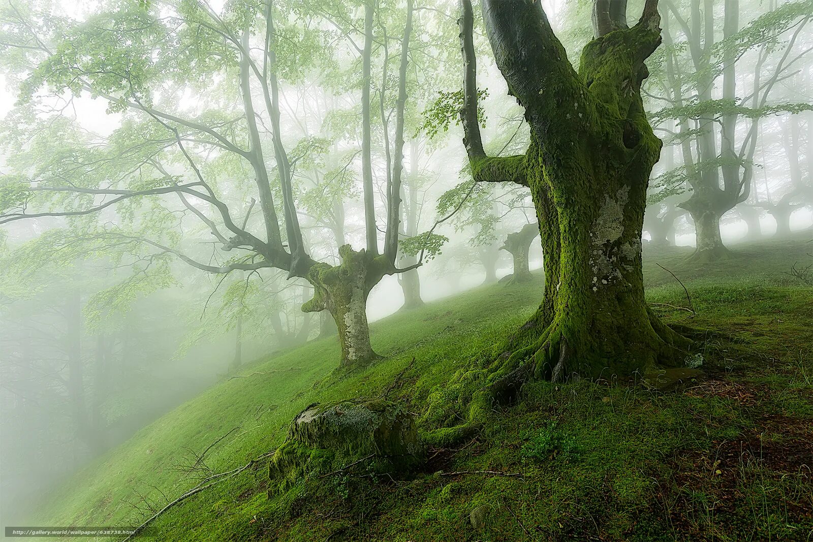
M 532 374 L 623 376 L 685 358 L 689 341 L 648 310 L 641 272 L 646 188 L 662 145 L 640 92 L 661 41 L 658 2 L 648 0 L 631 28 L 625 3 L 595 2 L 595 38 L 576 71 L 539 2 L 481 0 L 497 66 L 531 130 L 525 154 L 489 157 L 476 119 L 472 4 L 461 0 L 460 115 L 472 172 L 528 186 L 545 257 L 541 306 L 494 352 L 493 394 Z

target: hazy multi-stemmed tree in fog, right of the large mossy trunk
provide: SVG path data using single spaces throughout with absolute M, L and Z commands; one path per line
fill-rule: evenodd
M 693 219 L 693 258 L 712 260 L 727 254 L 721 217 L 751 196 L 762 119 L 811 108 L 800 96 L 780 98 L 777 83 L 793 76 L 804 58 L 813 3 L 772 3 L 745 25 L 741 2 L 667 0 L 664 7 L 664 44 L 649 95 L 666 103 L 654 123 L 680 147 L 683 163 L 663 176 L 690 188 L 678 206 Z M 741 212 L 753 230 L 758 217 Z

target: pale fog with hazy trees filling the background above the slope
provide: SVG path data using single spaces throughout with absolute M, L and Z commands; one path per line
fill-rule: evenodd
M 578 66 L 590 2 L 541 3 Z M 744 0 L 732 23 L 731 3 L 660 2 L 645 259 L 714 244 L 708 208 L 715 254 L 813 226 L 811 14 Z M 376 349 L 367 322 L 510 282 L 523 258 L 541 276 L 538 235 L 502 248 L 537 224 L 531 190 L 472 178 L 458 2 L 265 6 L 0 7 L 3 526 L 255 360 L 330 340 L 339 365 L 341 337 L 350 364 Z M 475 13 L 485 152 L 522 155 L 532 130 Z

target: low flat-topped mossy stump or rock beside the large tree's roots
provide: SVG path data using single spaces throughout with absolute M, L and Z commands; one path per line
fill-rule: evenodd
M 404 406 L 367 399 L 317 403 L 293 418 L 268 474 L 272 491 L 284 491 L 302 479 L 351 465 L 395 472 L 420 465 L 424 457 L 415 417 Z

